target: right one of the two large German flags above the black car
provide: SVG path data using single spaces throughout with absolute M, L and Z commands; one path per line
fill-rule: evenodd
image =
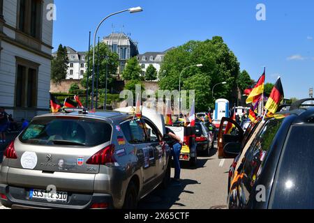
M 277 112 L 279 105 L 281 105 L 281 102 L 283 101 L 284 97 L 285 95 L 283 93 L 283 84 L 281 84 L 281 78 L 279 77 L 274 86 L 273 91 L 271 91 L 269 99 L 267 100 L 265 109 L 267 109 L 268 112 L 275 114 Z

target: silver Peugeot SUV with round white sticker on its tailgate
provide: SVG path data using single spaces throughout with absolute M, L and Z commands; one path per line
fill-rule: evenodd
M 4 152 L 1 203 L 136 208 L 139 199 L 170 181 L 170 147 L 153 122 L 120 112 L 33 118 Z

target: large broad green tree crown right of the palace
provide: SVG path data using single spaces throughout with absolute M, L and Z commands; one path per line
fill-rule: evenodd
M 181 80 L 182 89 L 196 90 L 196 109 L 207 111 L 209 107 L 213 108 L 214 98 L 236 102 L 239 62 L 219 36 L 205 41 L 192 40 L 167 52 L 160 69 L 160 89 L 178 90 L 181 71 L 200 63 L 202 68 L 187 69 Z M 216 86 L 212 98 L 211 91 L 220 82 L 227 84 Z

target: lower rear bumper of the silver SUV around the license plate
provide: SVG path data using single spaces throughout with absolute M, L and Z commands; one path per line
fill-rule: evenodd
M 110 194 L 68 193 L 66 203 L 30 200 L 27 189 L 8 185 L 0 185 L 0 194 L 6 195 L 7 199 L 0 198 L 0 203 L 7 208 L 90 209 L 94 203 L 107 203 L 108 209 L 113 208 L 112 195 Z

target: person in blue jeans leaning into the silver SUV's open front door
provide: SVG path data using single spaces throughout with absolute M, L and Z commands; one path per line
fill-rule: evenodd
M 182 149 L 182 141 L 170 128 L 166 128 L 166 134 L 170 137 L 170 141 L 167 141 L 167 144 L 172 148 L 171 155 L 174 160 L 174 182 L 176 185 L 181 185 L 180 183 L 180 153 Z

